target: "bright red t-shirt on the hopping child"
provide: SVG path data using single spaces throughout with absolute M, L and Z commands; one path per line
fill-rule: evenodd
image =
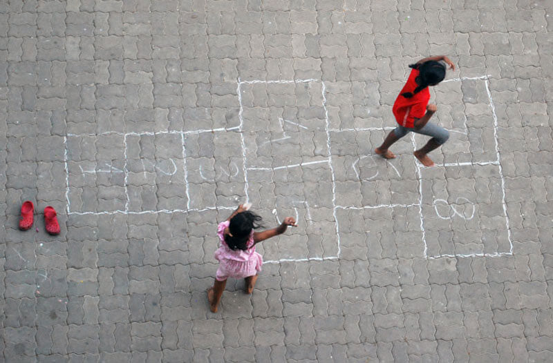
M 415 118 L 420 119 L 427 112 L 428 102 L 430 101 L 430 91 L 427 88 L 421 90 L 411 98 L 402 96 L 403 92 L 413 92 L 418 87 L 415 78 L 419 75 L 419 70 L 411 70 L 411 75 L 407 79 L 407 83 L 402 88 L 400 95 L 397 96 L 393 104 L 392 112 L 395 116 L 395 121 L 406 128 L 413 128 Z

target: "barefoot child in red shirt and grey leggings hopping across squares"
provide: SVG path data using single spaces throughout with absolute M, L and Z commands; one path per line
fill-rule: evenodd
M 393 159 L 395 155 L 388 148 L 395 141 L 413 131 L 413 133 L 432 137 L 426 145 L 416 150 L 413 155 L 419 159 L 422 165 L 434 166 L 434 162 L 427 154 L 449 139 L 447 130 L 429 123 L 438 107 L 435 104 L 429 104 L 430 91 L 428 87 L 439 84 L 445 78 L 446 67 L 440 61 L 444 61 L 449 65 L 449 68 L 455 70 L 455 65 L 444 55 L 424 58 L 409 66 L 413 68 L 411 75 L 409 75 L 409 79 L 407 79 L 400 95 L 395 99 L 392 108 L 398 126 L 388 134 L 382 145 L 375 149 L 375 153 L 386 159 Z

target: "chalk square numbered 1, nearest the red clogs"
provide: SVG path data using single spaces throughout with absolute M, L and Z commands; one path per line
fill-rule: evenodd
M 71 135 L 66 147 L 69 212 L 124 210 L 124 135 Z

